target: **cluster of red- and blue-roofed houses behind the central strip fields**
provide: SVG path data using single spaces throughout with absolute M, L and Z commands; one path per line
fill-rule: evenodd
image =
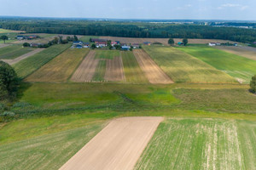
M 122 50 L 130 50 L 132 48 L 140 48 L 140 43 L 121 43 L 119 41 L 110 41 L 107 39 L 99 38 L 90 38 L 90 42 L 93 42 L 96 45 L 96 48 L 104 48 L 108 46 L 108 43 L 111 44 L 113 48 L 116 45 L 119 45 Z M 73 42 L 72 48 L 90 48 L 90 42 L 77 41 Z M 151 45 L 151 42 L 143 42 L 144 45 Z

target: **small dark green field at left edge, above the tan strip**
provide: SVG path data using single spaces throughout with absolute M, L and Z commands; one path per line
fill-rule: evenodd
M 10 45 L 0 48 L 0 59 L 15 59 L 20 55 L 31 52 L 34 48 L 23 48 L 22 45 Z

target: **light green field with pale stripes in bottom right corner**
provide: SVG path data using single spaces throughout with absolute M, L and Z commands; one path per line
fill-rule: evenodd
M 254 122 L 168 119 L 136 169 L 254 169 L 255 132 Z

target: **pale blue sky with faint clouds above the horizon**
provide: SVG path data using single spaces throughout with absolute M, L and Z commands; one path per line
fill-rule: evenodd
M 0 16 L 256 20 L 256 0 L 0 0 Z

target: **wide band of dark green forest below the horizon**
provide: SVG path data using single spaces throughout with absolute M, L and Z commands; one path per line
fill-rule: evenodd
M 172 37 L 224 39 L 256 42 L 255 29 L 201 26 L 196 24 L 148 23 L 142 21 L 65 20 L 2 18 L 0 28 L 29 33 L 56 33 L 114 37 Z

